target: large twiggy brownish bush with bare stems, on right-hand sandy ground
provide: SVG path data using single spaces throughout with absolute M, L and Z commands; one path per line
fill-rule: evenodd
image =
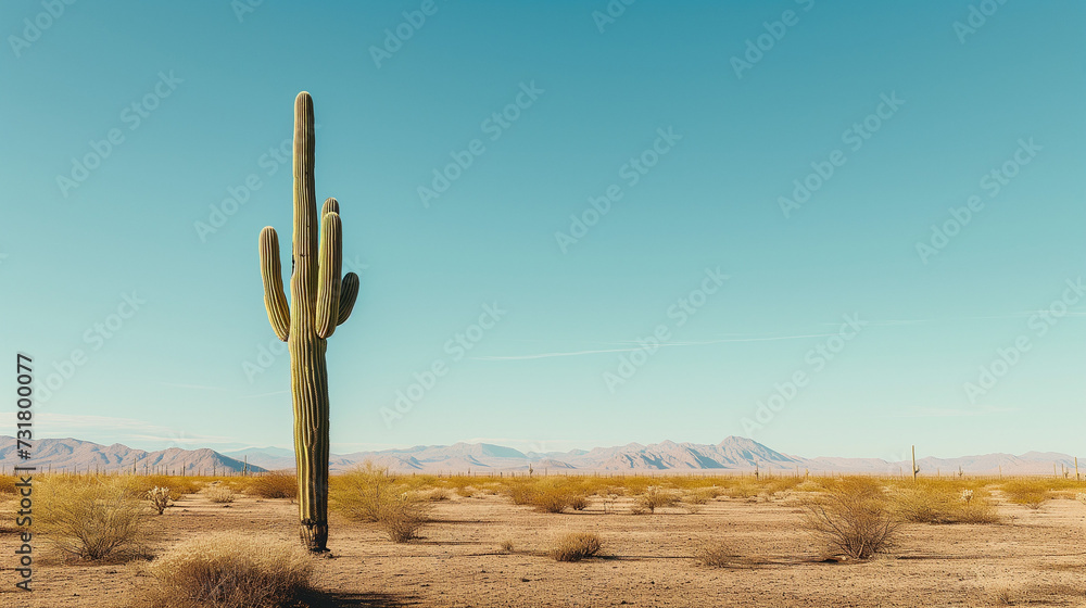
M 893 517 L 879 484 L 866 478 L 843 478 L 801 503 L 804 528 L 835 555 L 867 559 L 894 540 Z

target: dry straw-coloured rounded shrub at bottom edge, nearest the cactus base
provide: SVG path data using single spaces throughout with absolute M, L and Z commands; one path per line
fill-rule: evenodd
M 296 543 L 217 533 L 174 546 L 147 570 L 151 608 L 279 608 L 308 588 L 312 562 Z

